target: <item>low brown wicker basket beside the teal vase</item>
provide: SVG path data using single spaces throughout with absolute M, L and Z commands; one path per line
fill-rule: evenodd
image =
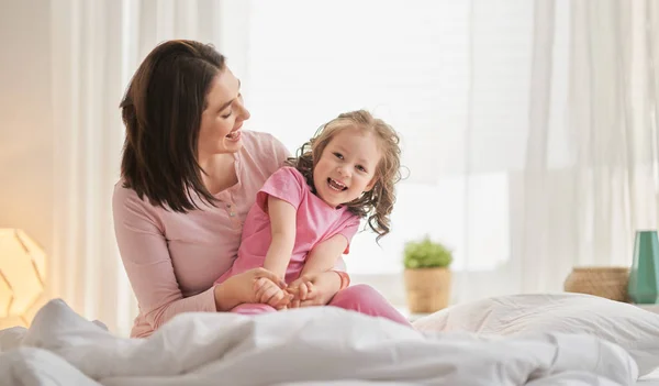
M 616 301 L 628 301 L 627 267 L 574 267 L 563 284 L 566 293 L 600 296 Z

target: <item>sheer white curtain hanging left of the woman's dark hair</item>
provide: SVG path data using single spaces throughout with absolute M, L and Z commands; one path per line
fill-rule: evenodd
M 49 294 L 113 330 L 129 319 L 130 287 L 113 239 L 124 74 L 122 7 L 52 3 L 54 245 Z

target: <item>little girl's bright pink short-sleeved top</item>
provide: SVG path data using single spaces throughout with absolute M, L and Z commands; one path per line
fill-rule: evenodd
M 272 241 L 267 213 L 268 196 L 289 202 L 297 210 L 295 241 L 286 272 L 286 282 L 297 279 L 306 255 L 319 243 L 342 234 L 348 244 L 359 228 L 359 217 L 346 207 L 332 208 L 311 191 L 304 176 L 293 167 L 282 167 L 268 178 L 256 196 L 256 202 L 245 220 L 238 257 L 217 283 L 245 271 L 261 267 Z M 348 249 L 344 251 L 348 253 Z

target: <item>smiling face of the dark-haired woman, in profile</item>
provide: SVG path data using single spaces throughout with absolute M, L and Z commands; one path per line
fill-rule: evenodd
M 241 128 L 249 119 L 243 104 L 241 80 L 228 68 L 217 74 L 206 95 L 206 108 L 201 113 L 199 158 L 241 150 Z

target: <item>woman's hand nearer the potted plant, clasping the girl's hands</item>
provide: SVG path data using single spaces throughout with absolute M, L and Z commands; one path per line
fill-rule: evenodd
M 333 271 L 303 275 L 287 289 L 294 295 L 289 308 L 324 306 L 340 289 L 340 276 Z

